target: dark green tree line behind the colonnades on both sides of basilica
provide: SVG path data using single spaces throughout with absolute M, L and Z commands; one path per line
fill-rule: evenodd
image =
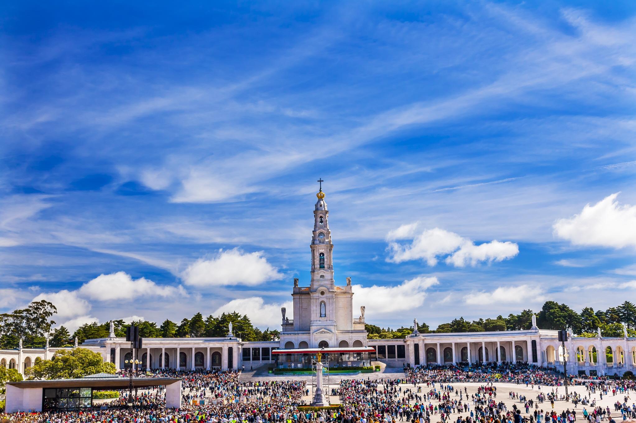
M 25 348 L 41 348 L 46 344 L 48 336 L 49 345 L 52 347 L 73 346 L 73 340 L 79 342 L 86 339 L 107 338 L 110 323 L 85 323 L 69 333 L 67 328 L 55 325 L 52 317 L 57 313 L 57 308 L 52 303 L 41 300 L 32 302 L 25 309 L 14 310 L 10 313 L 0 314 L 0 348 L 17 348 L 20 339 Z M 418 324 L 418 331 L 422 333 L 452 333 L 452 332 L 495 332 L 503 330 L 524 330 L 532 327 L 532 315 L 530 309 L 522 310 L 519 314 L 508 314 L 508 317 L 497 316 L 470 321 L 463 317 L 453 319 L 450 323 L 442 323 L 435 330 L 431 330 L 426 323 Z M 225 337 L 228 334 L 230 322 L 233 325 L 233 333 L 246 341 L 277 340 L 280 337 L 279 330 L 262 331 L 252 325 L 246 314 L 234 311 L 223 313 L 221 316 L 207 316 L 198 312 L 192 318 L 184 318 L 180 323 L 165 319 L 160 325 L 155 322 L 141 320 L 134 321 L 139 326 L 139 333 L 144 338 L 198 338 L 198 337 Z M 546 301 L 537 313 L 537 325 L 542 329 L 572 328 L 577 335 L 584 337 L 597 336 L 597 328 L 600 328 L 604 337 L 622 337 L 623 323 L 628 327 L 628 333 L 636 337 L 636 305 L 629 301 L 607 310 L 595 311 L 592 307 L 585 307 L 581 312 L 576 312 L 566 304 L 558 304 L 555 301 Z M 114 321 L 114 330 L 117 337 L 125 337 L 126 330 L 131 323 L 123 320 Z M 369 339 L 396 339 L 405 338 L 413 332 L 413 326 L 401 327 L 397 330 L 380 328 L 380 326 L 365 325 L 369 333 Z

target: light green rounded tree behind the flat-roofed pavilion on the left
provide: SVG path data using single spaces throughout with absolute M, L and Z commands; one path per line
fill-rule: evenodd
M 105 363 L 102 354 L 86 348 L 62 349 L 50 360 L 41 360 L 25 370 L 30 379 L 74 379 L 94 373 L 114 373 L 115 365 Z

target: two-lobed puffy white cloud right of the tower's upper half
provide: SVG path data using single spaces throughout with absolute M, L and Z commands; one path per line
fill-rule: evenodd
M 426 260 L 429 266 L 438 262 L 438 257 L 446 257 L 446 264 L 455 267 L 477 265 L 480 262 L 501 262 L 513 258 L 519 253 L 519 246 L 515 243 L 490 241 L 474 245 L 468 238 L 462 238 L 454 232 L 444 229 L 427 229 L 418 234 L 418 224 L 402 225 L 387 235 L 388 241 L 397 239 L 412 239 L 411 243 L 390 242 L 389 258 L 387 261 L 401 263 L 408 260 Z

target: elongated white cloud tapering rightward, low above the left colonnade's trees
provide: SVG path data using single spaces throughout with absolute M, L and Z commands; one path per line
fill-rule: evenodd
M 83 297 L 93 300 L 133 300 L 135 297 L 171 297 L 184 295 L 174 286 L 160 286 L 146 278 L 132 279 L 125 272 L 100 274 L 78 290 Z

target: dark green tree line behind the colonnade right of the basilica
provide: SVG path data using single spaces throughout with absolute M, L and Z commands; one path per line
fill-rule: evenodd
M 530 309 L 522 310 L 519 314 L 508 314 L 508 317 L 467 320 L 463 317 L 453 319 L 450 323 L 442 323 L 435 330 L 431 330 L 426 323 L 418 324 L 420 333 L 455 333 L 455 332 L 497 332 L 504 330 L 527 330 L 532 327 L 532 316 L 535 314 Z M 592 307 L 585 307 L 581 312 L 576 312 L 567 304 L 558 304 L 555 301 L 546 301 L 537 313 L 537 326 L 541 329 L 572 328 L 572 331 L 583 337 L 597 336 L 597 328 L 600 328 L 604 337 L 622 337 L 624 335 L 623 323 L 628 328 L 628 335 L 636 337 L 636 305 L 629 301 L 617 307 L 609 307 L 607 310 L 595 311 Z M 405 338 L 413 333 L 413 326 L 401 327 L 396 330 L 380 328 L 375 325 L 365 325 L 369 332 L 369 339 L 397 339 Z

